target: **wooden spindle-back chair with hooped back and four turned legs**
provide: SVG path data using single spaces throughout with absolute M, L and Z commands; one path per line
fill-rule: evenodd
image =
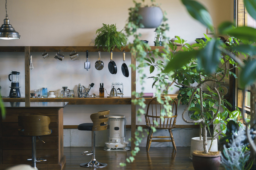
M 175 128 L 176 117 L 177 117 L 177 103 L 175 100 L 169 101 L 169 104 L 172 105 L 172 112 L 166 113 L 162 104 L 159 104 L 156 100 L 156 97 L 151 99 L 147 106 L 147 113 L 145 113 L 146 126 L 149 129 L 149 134 L 147 137 L 147 152 L 149 151 L 151 142 L 172 142 L 175 152 L 177 152 L 175 142 L 173 139 L 172 129 Z M 161 111 L 164 115 L 161 115 Z M 170 114 L 170 115 L 169 115 Z M 153 130 L 151 127 L 156 129 L 168 129 L 170 136 L 153 136 Z M 152 138 L 171 138 L 171 139 L 154 139 Z

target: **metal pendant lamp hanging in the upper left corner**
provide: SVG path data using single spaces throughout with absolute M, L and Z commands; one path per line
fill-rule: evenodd
M 5 10 L 6 15 L 4 19 L 4 24 L 0 27 L 0 39 L 3 40 L 12 40 L 12 39 L 20 39 L 20 35 L 13 26 L 10 24 L 10 20 L 8 19 L 7 15 L 7 0 L 5 1 Z

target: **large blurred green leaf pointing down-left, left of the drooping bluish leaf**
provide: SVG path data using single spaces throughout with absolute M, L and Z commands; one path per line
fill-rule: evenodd
M 185 64 L 189 63 L 192 58 L 195 58 L 197 54 L 198 50 L 184 51 L 175 54 L 175 56 L 168 62 L 164 72 L 170 72 L 181 68 Z

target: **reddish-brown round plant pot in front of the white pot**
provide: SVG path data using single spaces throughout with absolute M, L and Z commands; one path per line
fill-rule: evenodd
M 218 170 L 220 166 L 220 153 L 217 155 L 193 155 L 193 167 L 195 170 Z

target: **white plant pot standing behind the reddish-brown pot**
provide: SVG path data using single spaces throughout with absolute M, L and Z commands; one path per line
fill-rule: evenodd
M 209 149 L 210 146 L 211 146 L 211 138 L 210 137 L 207 137 L 207 143 L 208 143 L 207 148 Z M 190 159 L 193 158 L 192 153 L 195 150 L 204 151 L 203 140 L 200 140 L 200 137 L 191 138 L 190 157 L 189 157 Z M 218 142 L 217 142 L 216 138 L 213 139 L 210 151 L 212 151 L 212 152 L 217 152 L 218 151 Z

